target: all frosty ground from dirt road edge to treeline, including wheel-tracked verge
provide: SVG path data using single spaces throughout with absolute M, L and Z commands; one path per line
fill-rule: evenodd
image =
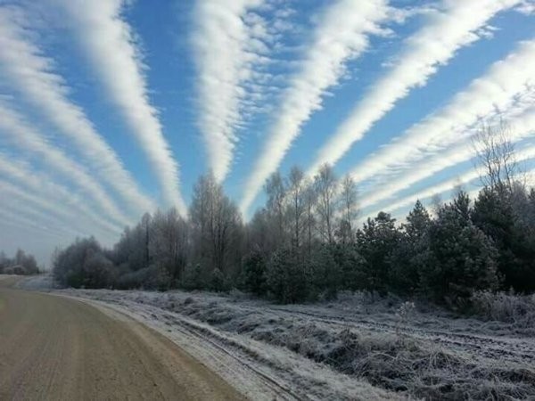
M 282 306 L 242 293 L 25 289 L 98 303 L 161 331 L 254 399 L 533 399 L 535 299 L 461 317 L 365 293 Z M 499 308 L 492 304 L 499 302 Z

